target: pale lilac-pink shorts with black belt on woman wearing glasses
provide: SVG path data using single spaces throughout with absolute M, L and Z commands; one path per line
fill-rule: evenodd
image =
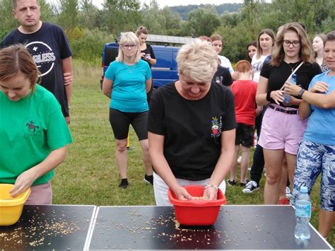
M 271 104 L 282 110 L 296 110 Z M 307 119 L 299 114 L 288 114 L 268 107 L 261 123 L 258 144 L 265 149 L 284 149 L 286 153 L 297 155 L 298 146 L 307 126 Z

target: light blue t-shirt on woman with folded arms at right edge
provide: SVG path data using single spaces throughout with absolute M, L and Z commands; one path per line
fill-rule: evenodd
M 317 83 L 317 81 L 322 81 L 329 84 L 329 90 L 326 95 L 335 91 L 335 76 L 328 76 L 329 71 L 323 72 L 312 78 L 310 82 L 310 88 Z M 311 105 L 312 113 L 308 118 L 307 128 L 303 139 L 307 141 L 312 141 L 317 144 L 324 145 L 335 145 L 335 108 L 322 109 Z

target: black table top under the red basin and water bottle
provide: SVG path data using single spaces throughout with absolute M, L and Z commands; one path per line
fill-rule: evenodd
M 331 250 L 310 225 L 311 238 L 296 243 L 292 206 L 223 206 L 213 226 L 177 226 L 170 206 L 98 208 L 90 250 Z

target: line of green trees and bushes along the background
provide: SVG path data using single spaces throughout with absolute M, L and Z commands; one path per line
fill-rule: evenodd
M 301 22 L 311 38 L 335 28 L 332 0 L 245 0 L 238 11 L 232 12 L 227 5 L 226 10 L 220 8 L 220 14 L 217 6 L 207 4 L 192 8 L 186 20 L 175 7 L 158 6 L 156 0 L 142 6 L 139 0 L 105 0 L 102 8 L 92 0 L 57 0 L 55 4 L 40 0 L 40 6 L 41 20 L 64 28 L 74 57 L 84 60 L 100 57 L 106 42 L 113 42 L 120 32 L 136 30 L 139 25 L 160 35 L 197 37 L 218 33 L 225 40 L 223 54 L 232 62 L 246 58 L 247 44 L 257 40 L 264 28 L 276 33 L 284 23 Z M 0 0 L 1 40 L 18 26 L 11 8 L 11 0 Z

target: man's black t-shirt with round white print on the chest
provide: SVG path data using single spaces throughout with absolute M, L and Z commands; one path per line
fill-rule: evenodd
M 69 116 L 64 86 L 62 59 L 72 57 L 69 41 L 63 30 L 53 23 L 42 23 L 40 30 L 24 34 L 18 29 L 6 35 L 0 47 L 21 43 L 32 55 L 41 75 L 40 85 L 57 98 L 64 117 Z

